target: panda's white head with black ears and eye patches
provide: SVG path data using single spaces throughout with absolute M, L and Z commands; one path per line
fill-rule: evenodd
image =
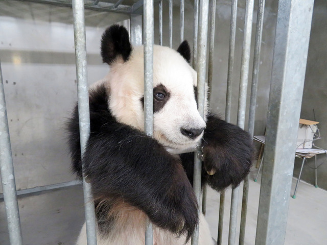
M 110 65 L 105 78 L 109 109 L 123 124 L 144 131 L 143 46 L 132 47 L 127 30 L 109 27 L 102 36 L 101 55 Z M 205 121 L 197 110 L 197 75 L 190 66 L 190 47 L 177 51 L 154 45 L 153 137 L 167 148 L 183 150 L 198 143 Z

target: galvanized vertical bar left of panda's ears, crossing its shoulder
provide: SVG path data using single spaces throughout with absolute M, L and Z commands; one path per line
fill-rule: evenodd
M 86 38 L 84 21 L 84 1 L 73 0 L 74 15 L 74 40 L 76 57 L 77 93 L 78 93 L 78 115 L 81 138 L 81 155 L 83 156 L 85 146 L 90 133 L 90 116 L 88 105 L 87 88 L 87 62 L 86 62 Z M 82 165 L 84 164 L 82 159 Z M 83 191 L 85 206 L 85 222 L 87 244 L 97 244 L 96 217 L 91 185 L 86 183 L 83 173 Z

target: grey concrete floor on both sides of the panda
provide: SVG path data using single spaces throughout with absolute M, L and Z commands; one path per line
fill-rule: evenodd
M 253 182 L 251 173 L 245 244 L 255 241 L 260 180 Z M 319 181 L 319 180 L 318 180 Z M 293 179 L 293 188 L 296 179 Z M 318 182 L 319 184 L 319 182 Z M 242 186 L 241 186 L 242 188 Z M 231 190 L 226 191 L 223 244 L 228 240 L 228 217 Z M 240 195 L 241 200 L 241 195 Z M 84 222 L 81 186 L 69 187 L 32 197 L 19 198 L 24 245 L 74 244 Z M 327 191 L 300 182 L 296 199 L 290 200 L 286 245 L 327 244 Z M 212 189 L 207 195 L 207 221 L 217 239 L 219 194 Z M 241 207 L 239 207 L 239 216 Z M 239 219 L 240 221 L 240 219 Z M 238 226 L 239 227 L 239 226 Z M 239 231 L 237 231 L 239 232 Z M 238 237 L 238 234 L 237 234 Z M 0 244 L 9 244 L 4 203 L 0 203 Z M 238 239 L 236 244 L 238 244 Z

